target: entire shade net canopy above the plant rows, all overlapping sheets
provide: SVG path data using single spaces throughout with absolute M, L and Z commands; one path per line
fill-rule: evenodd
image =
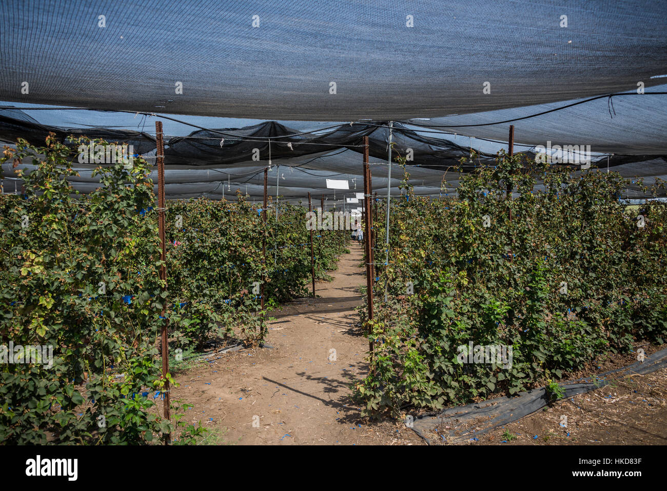
M 390 141 L 417 194 L 456 195 L 453 167 L 494 165 L 510 124 L 528 158 L 584 145 L 600 171 L 667 177 L 666 1 L 9 0 L 0 25 L 0 141 L 52 131 L 154 161 L 159 119 L 171 199 L 259 200 L 269 167 L 270 195 L 342 203 L 364 137 L 380 197 Z M 95 189 L 93 167 L 75 189 Z M 644 197 L 634 184 L 624 197 Z

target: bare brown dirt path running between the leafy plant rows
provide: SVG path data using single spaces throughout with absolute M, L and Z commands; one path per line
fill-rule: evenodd
M 419 442 L 411 431 L 368 425 L 350 406 L 349 384 L 368 370 L 368 341 L 354 311 L 366 278 L 363 251 L 353 243 L 350 252 L 329 273 L 333 282 L 317 283 L 318 298 L 271 313 L 265 343 L 273 348 L 241 350 L 176 377 L 174 399 L 194 405 L 187 420 L 226 428 L 222 438 L 232 444 Z

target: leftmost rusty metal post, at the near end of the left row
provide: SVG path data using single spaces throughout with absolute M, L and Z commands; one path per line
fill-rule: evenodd
M 162 283 L 162 291 L 167 290 L 167 249 L 165 245 L 165 145 L 162 134 L 162 121 L 155 121 L 155 143 L 156 151 L 155 157 L 157 159 L 157 227 L 160 236 L 160 280 Z M 162 324 L 161 342 L 162 342 L 162 377 L 165 382 L 162 393 L 164 394 L 164 417 L 169 420 L 169 380 L 167 380 L 167 373 L 169 373 L 169 334 L 167 333 L 167 320 L 165 320 L 165 304 L 162 304 Z M 165 435 L 165 444 L 171 442 L 171 436 Z

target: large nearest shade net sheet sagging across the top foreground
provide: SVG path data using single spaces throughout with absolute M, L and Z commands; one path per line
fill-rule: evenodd
M 443 117 L 659 85 L 667 3 L 5 0 L 0 99 L 174 114 Z

